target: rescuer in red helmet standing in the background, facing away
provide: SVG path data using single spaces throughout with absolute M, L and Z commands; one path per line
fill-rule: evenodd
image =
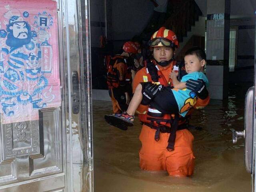
M 108 66 L 107 83 L 114 113 L 126 111 L 128 108 L 132 93 L 131 66 L 134 55 L 138 52 L 136 44 L 131 41 L 124 43 L 123 50 L 122 54 L 111 58 Z

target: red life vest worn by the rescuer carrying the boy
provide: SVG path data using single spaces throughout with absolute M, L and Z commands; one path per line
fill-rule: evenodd
M 151 78 L 152 72 L 148 68 L 149 64 L 152 64 L 152 63 L 146 64 L 147 79 L 148 79 L 148 82 L 150 82 L 150 81 L 153 82 L 152 78 Z M 176 61 L 174 60 L 171 63 L 171 65 L 172 66 L 170 66 L 170 67 L 175 66 Z M 158 66 L 155 65 L 155 67 L 157 69 L 157 74 L 158 74 L 158 82 L 157 83 L 164 85 L 164 86 L 172 86 L 172 82 L 170 81 L 170 79 L 167 81 L 166 78 L 164 78 L 164 75 L 162 74 L 162 72 L 160 71 Z M 151 124 L 152 126 L 164 125 L 164 126 L 170 127 L 171 119 L 173 117 L 171 116 L 171 114 L 162 114 L 157 109 L 152 108 L 151 106 L 148 106 L 148 110 L 147 110 L 146 114 L 139 114 L 139 118 L 140 118 L 141 122 L 144 122 L 146 124 Z

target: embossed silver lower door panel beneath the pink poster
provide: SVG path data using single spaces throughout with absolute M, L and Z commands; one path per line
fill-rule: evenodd
M 1 124 L 0 162 L 7 170 L 1 171 L 0 182 L 63 171 L 60 108 L 42 109 L 39 117 L 39 121 Z

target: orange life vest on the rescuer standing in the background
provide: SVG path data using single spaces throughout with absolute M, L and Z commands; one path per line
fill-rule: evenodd
M 124 63 L 126 64 L 126 74 L 124 74 L 124 80 L 128 83 L 132 83 L 132 74 L 130 72 L 130 68 L 127 66 L 127 62 L 124 56 L 114 56 L 113 58 L 110 59 L 110 62 L 108 64 L 108 72 L 107 72 L 107 84 L 108 88 L 118 88 L 120 86 L 120 81 L 119 81 L 119 72 L 116 68 L 116 65 L 118 63 Z

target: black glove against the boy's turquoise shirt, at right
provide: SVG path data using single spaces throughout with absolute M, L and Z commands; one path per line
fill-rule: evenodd
M 208 97 L 209 93 L 206 89 L 205 83 L 202 79 L 193 80 L 189 79 L 186 81 L 186 88 L 195 92 L 198 98 L 204 100 Z

